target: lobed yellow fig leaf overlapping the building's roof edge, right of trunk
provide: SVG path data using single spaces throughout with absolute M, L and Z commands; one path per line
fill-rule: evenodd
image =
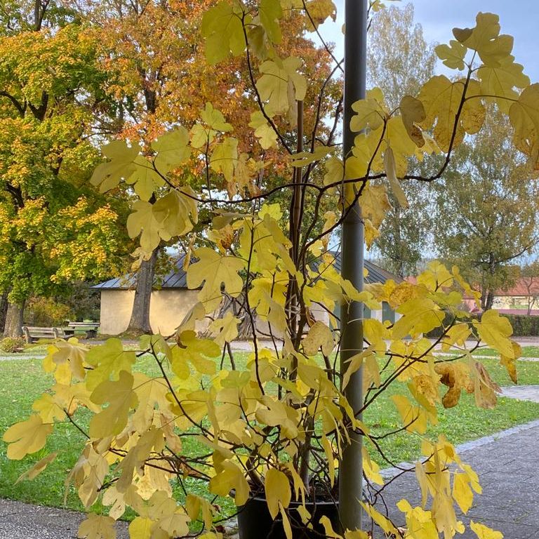
M 187 286 L 194 289 L 204 283 L 199 301 L 204 303 L 206 312 L 212 312 L 219 306 L 221 285 L 229 295 L 237 298 L 244 287 L 244 281 L 238 274 L 245 267 L 244 260 L 220 255 L 208 247 L 201 247 L 194 253 L 199 260 L 187 270 Z

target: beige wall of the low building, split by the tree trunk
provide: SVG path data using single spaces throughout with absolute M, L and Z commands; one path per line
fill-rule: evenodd
M 154 290 L 149 308 L 152 331 L 172 335 L 197 302 L 197 294 L 194 290 Z M 134 290 L 101 291 L 100 332 L 104 335 L 124 333 L 131 319 L 134 300 Z

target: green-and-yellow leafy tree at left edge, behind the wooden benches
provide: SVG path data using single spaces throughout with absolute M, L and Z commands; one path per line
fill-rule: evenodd
M 25 8 L 32 8 L 33 26 Z M 116 223 L 122 205 L 107 206 L 88 185 L 98 162 L 88 135 L 93 109 L 104 100 L 95 41 L 55 4 L 36 1 L 15 13 L 0 37 L 0 286 L 11 302 L 6 334 L 20 333 L 29 295 L 49 293 L 55 282 L 72 277 L 116 272 L 125 252 Z M 58 21 L 66 24 L 57 27 Z

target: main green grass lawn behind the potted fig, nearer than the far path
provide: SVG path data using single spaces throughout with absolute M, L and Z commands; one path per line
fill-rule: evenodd
M 238 355 L 244 356 L 245 354 Z M 239 357 L 239 359 L 240 361 L 244 360 L 244 357 Z M 499 366 L 498 361 L 487 359 L 484 363 L 500 385 L 512 383 L 505 373 L 505 369 Z M 140 361 L 138 368 L 147 373 L 155 372 L 154 364 L 150 363 L 149 360 Z M 519 363 L 518 368 L 521 384 L 539 385 L 539 363 L 523 361 Z M 38 358 L 13 358 L 0 361 L 0 408 L 2 410 L 0 432 L 3 433 L 14 422 L 27 418 L 31 411 L 32 402 L 51 386 L 52 380 L 50 375 L 46 375 L 41 370 L 41 360 Z M 406 388 L 404 391 L 407 391 Z M 377 431 L 387 431 L 399 427 L 397 411 L 390 401 L 391 395 L 398 392 L 397 384 L 368 409 L 365 420 L 369 425 L 374 425 L 373 434 Z M 463 395 L 458 407 L 440 410 L 439 424 L 432 427 L 429 434 L 436 437 L 439 432 L 443 432 L 450 441 L 460 444 L 536 418 L 539 418 L 539 404 L 500 398 L 495 410 L 486 411 L 475 406 L 472 396 Z M 382 448 L 394 463 L 399 463 L 404 460 L 413 460 L 419 454 L 420 441 L 420 437 L 416 435 L 399 434 L 384 440 Z M 64 481 L 67 472 L 74 465 L 83 443 L 84 438 L 79 432 L 76 432 L 69 425 L 58 425 L 55 434 L 49 439 L 46 449 L 37 455 L 14 462 L 7 460 L 6 444 L 0 441 L 0 498 L 63 507 Z M 189 444 L 193 443 L 196 442 L 187 441 L 185 450 L 189 451 Z M 192 449 L 194 448 L 192 447 Z M 21 481 L 15 485 L 15 481 L 22 472 L 25 472 L 36 460 L 43 458 L 50 451 L 59 451 L 59 455 L 45 472 L 34 481 Z M 379 457 L 375 457 L 375 460 L 381 467 L 387 467 L 387 463 L 384 463 Z M 199 488 L 199 485 L 193 484 L 194 490 Z M 72 486 L 67 492 L 65 507 L 75 510 L 82 509 Z M 223 509 L 227 509 L 227 507 L 223 507 Z

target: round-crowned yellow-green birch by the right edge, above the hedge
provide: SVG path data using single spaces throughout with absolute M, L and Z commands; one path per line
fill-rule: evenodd
M 438 186 L 434 244 L 481 291 L 484 310 L 495 291 L 514 284 L 514 262 L 539 239 L 537 174 L 512 131 L 502 112 L 489 107 L 483 130 L 458 149 Z

